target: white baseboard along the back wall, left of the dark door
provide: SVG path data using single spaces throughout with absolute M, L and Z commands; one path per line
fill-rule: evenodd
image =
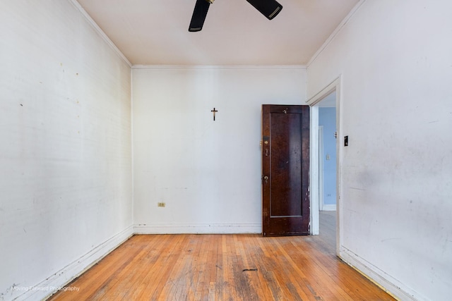
M 239 234 L 262 233 L 260 223 L 136 224 L 136 234 Z

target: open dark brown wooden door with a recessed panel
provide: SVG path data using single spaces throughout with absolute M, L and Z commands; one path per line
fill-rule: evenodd
M 309 106 L 262 106 L 262 234 L 309 234 Z

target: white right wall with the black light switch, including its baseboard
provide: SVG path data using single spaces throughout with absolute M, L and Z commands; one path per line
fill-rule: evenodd
M 367 0 L 308 67 L 342 75 L 341 256 L 403 300 L 452 294 L 451 11 Z

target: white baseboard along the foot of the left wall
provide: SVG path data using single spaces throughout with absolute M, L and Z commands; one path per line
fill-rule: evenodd
M 100 261 L 112 252 L 114 249 L 119 247 L 124 241 L 129 239 L 133 235 L 133 227 L 129 226 L 117 235 L 114 235 L 109 240 L 102 242 L 93 250 L 84 254 L 82 257 L 76 259 L 71 264 L 68 264 L 63 269 L 57 271 L 57 273 L 49 276 L 46 280 L 41 283 L 37 283 L 33 287 L 23 290 L 23 294 L 17 296 L 14 300 L 45 300 L 58 290 L 64 288 L 67 283 L 73 281 L 83 272 L 88 270 L 91 266 Z

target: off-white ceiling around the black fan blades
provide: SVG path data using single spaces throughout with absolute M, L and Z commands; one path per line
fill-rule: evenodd
M 196 0 L 77 0 L 133 65 L 306 65 L 359 0 L 278 0 L 268 20 L 216 0 L 189 32 Z

